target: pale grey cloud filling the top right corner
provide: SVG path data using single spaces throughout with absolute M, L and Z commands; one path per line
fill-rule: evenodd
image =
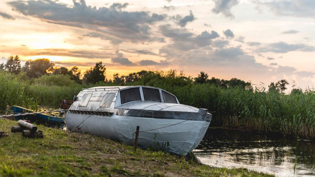
M 313 0 L 279 0 L 270 2 L 253 1 L 258 6 L 266 6 L 279 16 L 315 18 L 315 1 Z

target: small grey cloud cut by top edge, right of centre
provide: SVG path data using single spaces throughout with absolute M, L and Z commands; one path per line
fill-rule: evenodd
M 213 0 L 215 2 L 215 7 L 212 12 L 215 14 L 223 14 L 227 18 L 235 18 L 231 13 L 231 8 L 238 4 L 238 0 Z

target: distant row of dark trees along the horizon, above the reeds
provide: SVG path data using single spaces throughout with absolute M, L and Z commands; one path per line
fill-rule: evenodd
M 76 83 L 95 84 L 95 83 L 114 83 L 114 84 L 128 84 L 137 81 L 140 78 L 146 77 L 146 75 L 154 74 L 153 71 L 140 71 L 130 73 L 126 76 L 119 76 L 118 73 L 113 75 L 112 79 L 106 78 L 106 67 L 102 62 L 97 62 L 95 66 L 85 71 L 83 75 L 77 66 L 73 66 L 70 70 L 66 67 L 55 67 L 55 64 L 49 59 L 36 59 L 27 60 L 22 67 L 20 64 L 20 57 L 18 55 L 9 56 L 7 62 L 0 64 L 0 70 L 8 71 L 13 74 L 18 74 L 21 71 L 26 72 L 26 76 L 29 78 L 38 78 L 43 75 L 59 74 L 69 75 L 70 78 Z M 241 87 L 244 89 L 253 89 L 252 84 L 243 80 L 232 78 L 231 80 L 218 79 L 209 76 L 207 73 L 201 71 L 198 77 L 186 77 L 182 72 L 180 77 L 187 83 L 209 83 L 221 88 L 234 88 Z M 81 79 L 82 78 L 82 79 Z M 283 93 L 286 90 L 286 85 L 289 84 L 286 80 L 278 81 L 277 83 L 270 83 L 268 91 L 277 91 Z M 295 90 L 296 91 L 296 90 Z

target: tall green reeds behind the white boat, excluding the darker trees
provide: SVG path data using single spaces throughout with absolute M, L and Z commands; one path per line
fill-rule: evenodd
M 82 88 L 115 85 L 77 84 L 61 75 L 43 76 L 30 81 L 22 78 L 0 73 L 0 110 L 5 110 L 7 105 L 59 107 L 60 99 L 71 100 L 73 93 L 79 93 Z M 181 104 L 206 108 L 213 112 L 210 126 L 315 138 L 313 90 L 282 94 L 266 92 L 264 88 L 221 88 L 209 83 L 193 83 L 191 77 L 175 71 L 155 71 L 126 85 L 163 88 L 175 94 Z

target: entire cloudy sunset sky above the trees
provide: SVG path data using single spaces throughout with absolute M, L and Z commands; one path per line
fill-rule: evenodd
M 200 71 L 257 85 L 315 86 L 314 0 L 2 0 L 0 63 L 96 62 L 106 76 Z

